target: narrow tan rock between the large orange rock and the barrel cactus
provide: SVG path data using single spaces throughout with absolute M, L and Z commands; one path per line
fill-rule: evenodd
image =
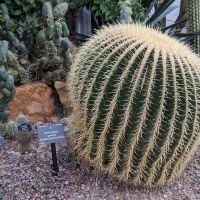
M 65 82 L 55 81 L 55 88 L 58 92 L 60 101 L 64 107 L 64 115 L 69 116 L 72 113 L 72 107 L 69 99 L 69 91 Z

